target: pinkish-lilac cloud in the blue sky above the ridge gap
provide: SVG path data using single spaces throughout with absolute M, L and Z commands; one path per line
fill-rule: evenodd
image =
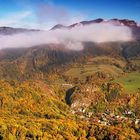
M 65 24 L 69 25 L 85 19 L 85 15 L 76 11 L 69 11 L 62 6 L 52 2 L 45 2 L 33 7 L 38 23 L 42 27 L 44 24 Z

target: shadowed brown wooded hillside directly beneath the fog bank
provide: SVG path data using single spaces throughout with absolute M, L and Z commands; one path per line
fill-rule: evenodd
M 127 67 L 129 69 L 139 69 L 139 65 L 134 65 L 131 62 L 131 59 L 135 61 L 139 57 L 139 41 L 102 44 L 86 42 L 84 46 L 85 48 L 81 51 L 69 50 L 61 44 L 1 50 L 0 77 L 21 80 L 45 78 L 48 73 L 59 73 L 59 71 L 63 71 L 64 69 L 68 71 L 69 67 L 72 68 L 73 66 L 79 68 L 86 67 L 87 69 L 95 69 L 94 71 L 96 71 L 96 65 L 101 66 L 101 69 L 106 69 L 106 64 L 111 65 L 116 70 L 118 69 L 120 73 L 125 68 L 128 69 Z M 101 60 L 96 60 L 98 57 L 101 57 Z M 102 59 L 105 60 L 102 61 Z M 114 72 L 116 71 L 115 69 Z M 110 70 L 106 70 L 106 72 L 110 73 Z

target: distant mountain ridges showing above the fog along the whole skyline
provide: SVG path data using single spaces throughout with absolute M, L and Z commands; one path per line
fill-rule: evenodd
M 110 23 L 115 26 L 128 26 L 132 29 L 132 32 L 135 36 L 135 38 L 140 39 L 140 27 L 134 20 L 128 20 L 128 19 L 110 19 L 110 20 L 104 20 L 102 18 L 98 18 L 95 20 L 90 21 L 81 21 L 79 23 L 74 23 L 69 26 L 65 26 L 62 24 L 57 24 L 54 27 L 51 28 L 51 30 L 56 29 L 72 29 L 77 26 L 86 26 L 91 24 L 99 24 L 99 23 Z M 12 34 L 18 34 L 18 33 L 25 33 L 25 32 L 38 32 L 40 30 L 38 29 L 26 29 L 26 28 L 13 28 L 13 27 L 0 27 L 0 35 L 12 35 Z

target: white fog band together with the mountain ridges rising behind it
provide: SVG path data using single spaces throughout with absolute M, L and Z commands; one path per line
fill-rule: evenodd
M 68 29 L 68 30 L 67 30 Z M 68 49 L 81 50 L 82 42 L 127 42 L 140 38 L 140 27 L 133 20 L 96 19 L 70 26 L 56 25 L 49 31 L 0 28 L 1 48 L 32 47 L 44 44 L 63 44 Z M 8 35 L 8 36 L 5 36 Z M 73 37 L 76 35 L 75 37 Z M 77 46 L 77 47 L 75 47 Z

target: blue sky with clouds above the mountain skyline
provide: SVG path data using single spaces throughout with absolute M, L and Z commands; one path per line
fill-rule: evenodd
M 140 0 L 0 0 L 0 26 L 49 29 L 96 18 L 140 23 Z

